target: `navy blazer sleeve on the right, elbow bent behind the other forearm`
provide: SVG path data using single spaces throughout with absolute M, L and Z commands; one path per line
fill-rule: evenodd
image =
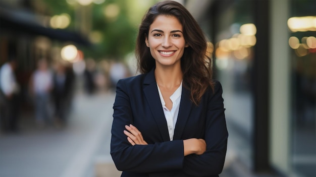
M 207 99 L 207 117 L 204 134 L 206 151 L 202 155 L 191 154 L 184 158 L 183 171 L 186 174 L 192 176 L 210 176 L 218 175 L 223 170 L 228 132 L 222 93 L 222 86 L 217 81 L 214 94 L 211 94 Z

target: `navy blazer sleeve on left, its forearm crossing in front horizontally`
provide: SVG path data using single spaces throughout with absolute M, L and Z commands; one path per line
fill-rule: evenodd
M 181 169 L 184 159 L 183 141 L 135 146 L 127 141 L 123 130 L 125 130 L 125 125 L 133 124 L 130 94 L 134 94 L 134 92 L 123 81 L 120 80 L 117 84 L 111 130 L 111 156 L 116 167 L 121 171 L 141 173 Z

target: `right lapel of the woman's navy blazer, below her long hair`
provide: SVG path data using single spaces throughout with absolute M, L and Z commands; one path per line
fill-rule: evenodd
M 190 100 L 190 91 L 182 86 L 182 95 L 180 101 L 180 108 L 178 119 L 176 123 L 175 133 L 173 136 L 174 140 L 180 140 L 185 124 L 188 120 L 190 111 L 192 108 L 192 102 Z

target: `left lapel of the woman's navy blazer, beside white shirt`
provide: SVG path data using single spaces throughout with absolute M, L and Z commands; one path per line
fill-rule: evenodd
M 152 116 L 159 127 L 160 133 L 164 141 L 170 141 L 167 121 L 164 110 L 160 101 L 156 80 L 154 78 L 154 69 L 152 69 L 144 79 L 143 89 L 148 105 L 152 112 Z

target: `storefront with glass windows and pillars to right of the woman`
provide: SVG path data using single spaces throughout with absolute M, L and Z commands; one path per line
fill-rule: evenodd
M 193 2 L 214 45 L 229 149 L 257 173 L 316 176 L 316 2 Z

